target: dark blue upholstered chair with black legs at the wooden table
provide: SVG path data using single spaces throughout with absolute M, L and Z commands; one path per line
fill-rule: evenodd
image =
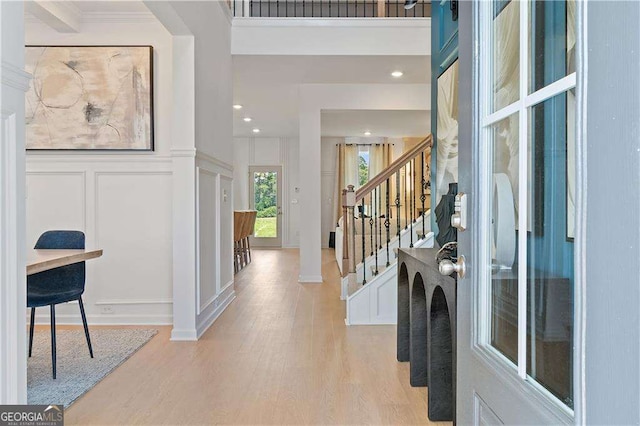
M 80 231 L 47 231 L 38 238 L 36 249 L 84 249 L 84 233 Z M 84 324 L 84 334 L 89 346 L 89 355 L 93 358 L 91 338 L 87 317 L 84 314 L 82 293 L 84 293 L 84 262 L 74 263 L 60 268 L 39 272 L 27 277 L 27 307 L 31 308 L 29 327 L 29 356 L 33 347 L 33 327 L 36 308 L 49 306 L 51 310 L 51 365 L 53 378 L 56 378 L 56 308 L 58 303 L 77 300 Z

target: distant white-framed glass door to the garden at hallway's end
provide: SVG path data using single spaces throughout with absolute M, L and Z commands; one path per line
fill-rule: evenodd
M 258 212 L 251 243 L 282 246 L 282 167 L 249 167 L 249 207 Z

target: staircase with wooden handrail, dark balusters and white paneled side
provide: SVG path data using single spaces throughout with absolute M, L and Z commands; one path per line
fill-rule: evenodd
M 336 237 L 342 237 L 347 325 L 396 324 L 398 248 L 433 247 L 431 210 L 425 208 L 431 146 L 429 135 L 358 191 L 353 186 L 343 190 L 347 220 Z M 371 217 L 356 218 L 356 206 Z M 356 222 L 362 228 L 357 236 Z

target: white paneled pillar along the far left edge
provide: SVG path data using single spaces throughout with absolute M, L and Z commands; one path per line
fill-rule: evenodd
M 26 212 L 22 2 L 0 2 L 0 404 L 26 404 Z

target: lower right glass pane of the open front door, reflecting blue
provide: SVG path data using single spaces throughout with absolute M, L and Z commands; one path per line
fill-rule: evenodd
M 530 214 L 527 241 L 527 374 L 573 408 L 572 90 L 529 111 Z M 571 111 L 571 112 L 570 112 Z

